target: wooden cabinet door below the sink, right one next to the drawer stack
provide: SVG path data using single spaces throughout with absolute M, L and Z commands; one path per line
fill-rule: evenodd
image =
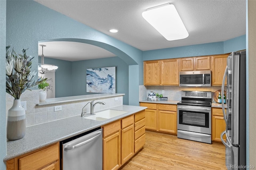
M 134 124 L 122 129 L 121 140 L 121 163 L 124 164 L 134 154 Z

